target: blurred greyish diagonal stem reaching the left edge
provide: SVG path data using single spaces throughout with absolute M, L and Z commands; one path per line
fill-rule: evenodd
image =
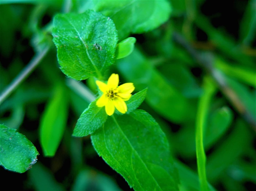
M 42 52 L 38 53 L 33 57 L 32 60 L 27 64 L 27 66 L 18 74 L 18 76 L 12 80 L 9 86 L 1 93 L 0 96 L 0 104 L 4 102 L 10 94 L 19 86 L 21 82 L 23 82 L 29 74 L 37 67 L 40 61 L 44 58 L 46 53 L 48 52 L 49 47 L 46 47 Z

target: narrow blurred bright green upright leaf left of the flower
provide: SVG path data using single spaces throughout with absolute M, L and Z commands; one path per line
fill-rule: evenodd
M 39 127 L 43 154 L 53 157 L 59 147 L 67 123 L 68 100 L 62 84 L 56 85 L 54 95 L 48 102 Z

